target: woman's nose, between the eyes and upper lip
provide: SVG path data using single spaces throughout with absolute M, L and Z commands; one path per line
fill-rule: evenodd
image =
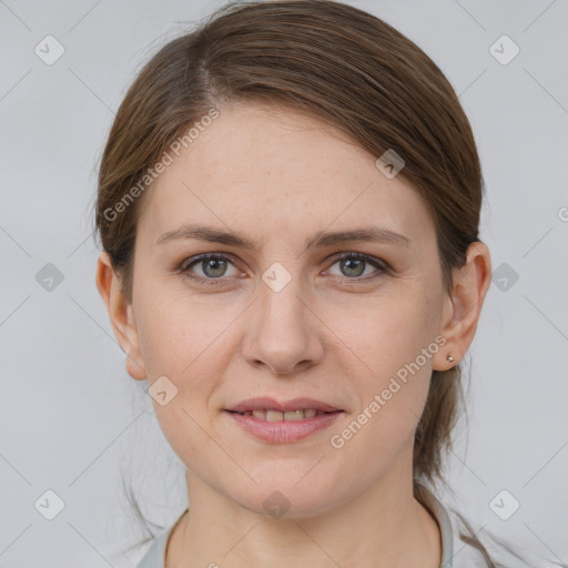
M 294 375 L 320 363 L 325 326 L 303 300 L 300 277 L 293 276 L 278 292 L 261 282 L 258 294 L 243 341 L 248 363 L 266 365 L 275 375 Z

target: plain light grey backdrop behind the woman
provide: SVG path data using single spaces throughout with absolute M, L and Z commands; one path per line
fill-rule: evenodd
M 123 476 L 159 524 L 186 506 L 183 468 L 94 285 L 91 207 L 136 70 L 222 3 L 0 0 L 0 567 L 133 566 L 141 552 L 122 550 L 141 532 Z M 568 562 L 568 3 L 351 3 L 415 41 L 459 94 L 488 190 L 481 239 L 494 268 L 506 263 L 470 349 L 455 500 L 476 528 Z M 48 34 L 64 48 L 52 65 L 34 53 Z M 506 65 L 489 50 L 503 34 L 520 49 Z M 51 291 L 48 263 L 63 276 Z M 48 489 L 64 501 L 53 520 L 34 506 Z M 489 507 L 503 489 L 520 503 L 508 520 Z

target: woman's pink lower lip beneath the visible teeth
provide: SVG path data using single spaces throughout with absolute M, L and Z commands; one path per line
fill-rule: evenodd
M 263 442 L 286 443 L 307 438 L 316 432 L 328 428 L 343 410 L 320 414 L 302 420 L 261 420 L 252 415 L 225 410 L 245 432 Z

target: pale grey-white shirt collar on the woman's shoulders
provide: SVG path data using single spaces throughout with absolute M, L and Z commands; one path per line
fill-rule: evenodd
M 462 515 L 446 509 L 427 489 L 424 493 L 424 505 L 436 518 L 442 535 L 440 568 L 568 568 L 513 548 L 515 545 L 509 549 L 487 532 L 476 535 Z M 165 547 L 178 521 L 152 541 L 136 568 L 164 568 Z

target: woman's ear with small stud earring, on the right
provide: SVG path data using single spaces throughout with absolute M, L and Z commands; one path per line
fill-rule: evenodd
M 480 241 L 471 243 L 466 263 L 454 270 L 454 287 L 444 301 L 440 335 L 446 344 L 434 356 L 434 369 L 447 371 L 456 366 L 474 341 L 485 295 L 491 283 L 489 250 Z M 452 355 L 454 361 L 447 361 Z

